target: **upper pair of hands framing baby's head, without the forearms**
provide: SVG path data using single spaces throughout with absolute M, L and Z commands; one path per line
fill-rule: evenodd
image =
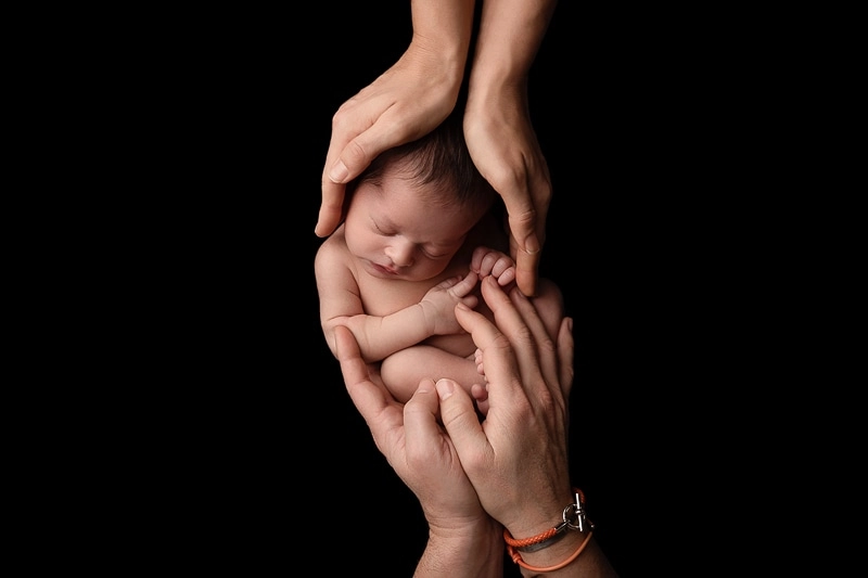
M 328 236 L 341 223 L 347 182 L 380 153 L 429 133 L 451 113 L 461 75 L 438 64 L 438 57 L 411 43 L 398 62 L 337 110 L 322 171 L 317 235 Z M 464 139 L 476 168 L 503 198 L 515 281 L 525 295 L 534 295 L 551 178 L 524 85 L 489 87 L 485 97 L 469 99 Z

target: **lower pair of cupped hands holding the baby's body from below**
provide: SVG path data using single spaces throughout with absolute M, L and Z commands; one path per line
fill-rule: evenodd
M 343 326 L 335 330 L 337 357 L 378 449 L 420 500 L 433 535 L 460 535 L 490 516 L 513 536 L 534 536 L 557 522 L 552 516 L 572 496 L 572 320 L 564 319 L 556 341 L 516 288 L 507 294 L 487 277 L 482 294 L 496 325 L 463 305 L 456 317 L 485 363 L 489 408 L 483 422 L 451 380 L 422 381 L 406 404 L 396 402 Z

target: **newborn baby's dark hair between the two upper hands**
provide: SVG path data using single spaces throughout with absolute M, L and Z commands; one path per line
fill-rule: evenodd
M 497 195 L 470 156 L 460 105 L 430 133 L 381 153 L 357 180 L 375 182 L 393 167 L 413 183 L 435 185 L 444 204 L 490 206 Z

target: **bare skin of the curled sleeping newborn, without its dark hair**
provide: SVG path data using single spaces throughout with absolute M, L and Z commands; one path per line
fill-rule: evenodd
M 514 262 L 477 245 L 492 239 L 489 232 L 502 236 L 485 207 L 444 205 L 441 193 L 423 187 L 430 185 L 393 168 L 356 188 L 345 222 L 315 261 L 323 333 L 335 352 L 334 329 L 348 327 L 362 358 L 382 361 L 383 380 L 399 401 L 412 396 L 421 378 L 449 376 L 485 412 L 483 365 L 455 306 L 478 307 L 490 317 L 480 304 L 477 281 L 494 277 L 512 284 Z M 557 331 L 562 298 L 557 286 L 547 286 L 537 301 Z

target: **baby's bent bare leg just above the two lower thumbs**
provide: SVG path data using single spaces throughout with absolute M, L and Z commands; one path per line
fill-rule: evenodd
M 419 382 L 426 377 L 435 382 L 442 377 L 455 380 L 468 394 L 473 384 L 485 384 L 473 357 L 459 357 L 430 345 L 414 345 L 392 354 L 380 365 L 380 376 L 401 403 L 412 397 Z

